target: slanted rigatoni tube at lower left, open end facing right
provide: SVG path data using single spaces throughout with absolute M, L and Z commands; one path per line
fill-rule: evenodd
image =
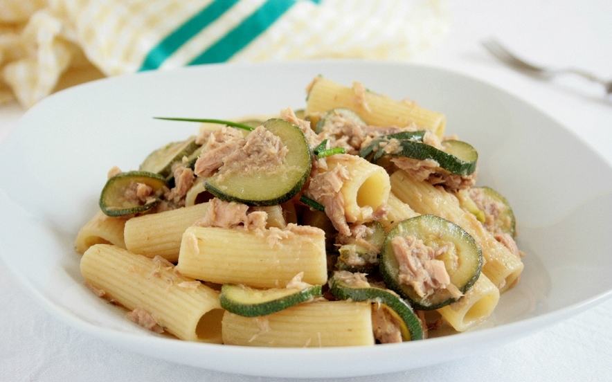
M 174 273 L 174 266 L 109 244 L 83 254 L 83 278 L 100 297 L 143 312 L 154 324 L 182 340 L 221 343 L 224 309 L 219 295 L 201 282 Z M 140 323 L 140 322 L 139 322 Z

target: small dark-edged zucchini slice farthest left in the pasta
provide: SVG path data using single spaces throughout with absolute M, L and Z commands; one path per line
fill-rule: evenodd
M 152 188 L 145 201 L 136 196 L 139 184 Z M 100 210 L 108 216 L 142 213 L 156 206 L 167 188 L 168 183 L 160 174 L 145 171 L 122 172 L 107 181 L 98 203 Z

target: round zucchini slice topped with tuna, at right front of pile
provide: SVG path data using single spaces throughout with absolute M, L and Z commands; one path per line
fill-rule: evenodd
M 432 260 L 441 260 L 444 263 L 444 269 L 449 274 L 452 286 L 440 285 L 440 287 L 424 288 L 426 290 L 423 291 L 420 280 L 414 280 L 411 275 L 406 275 L 406 271 L 401 274 L 400 267 L 404 269 L 404 266 L 400 265 L 400 262 L 402 264 L 408 262 L 399 260 L 403 258 L 402 255 L 395 253 L 393 239 L 397 237 L 407 241 L 417 240 L 414 246 L 408 248 L 410 251 L 408 256 L 415 260 L 417 266 L 422 267 L 424 272 L 426 272 L 425 262 L 416 254 L 423 251 L 440 252 L 435 253 L 435 258 Z M 429 248 L 424 248 L 422 245 Z M 451 293 L 451 290 L 456 288 L 460 293 L 465 293 L 478 280 L 482 266 L 483 255 L 480 247 L 465 230 L 442 217 L 420 215 L 406 219 L 390 230 L 381 250 L 379 271 L 387 287 L 408 300 L 413 308 L 433 310 L 457 301 L 460 296 Z M 406 266 L 406 268 L 411 267 L 414 268 Z

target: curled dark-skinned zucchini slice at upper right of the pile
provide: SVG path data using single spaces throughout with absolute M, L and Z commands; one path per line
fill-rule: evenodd
M 400 139 L 398 142 L 399 145 L 393 152 L 386 152 L 384 149 L 375 152 L 371 159 L 372 163 L 377 163 L 384 155 L 406 156 L 420 161 L 432 159 L 438 162 L 438 165 L 444 170 L 457 175 L 469 175 L 476 171 L 478 152 L 469 143 L 461 140 L 442 141 L 446 151 L 417 140 Z

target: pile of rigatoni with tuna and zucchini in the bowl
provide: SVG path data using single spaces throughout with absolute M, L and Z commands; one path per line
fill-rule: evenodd
M 138 170 L 112 168 L 75 242 L 85 284 L 138 325 L 396 343 L 476 327 L 519 281 L 512 209 L 476 186 L 478 152 L 442 113 L 317 77 L 303 110 L 199 121 Z

